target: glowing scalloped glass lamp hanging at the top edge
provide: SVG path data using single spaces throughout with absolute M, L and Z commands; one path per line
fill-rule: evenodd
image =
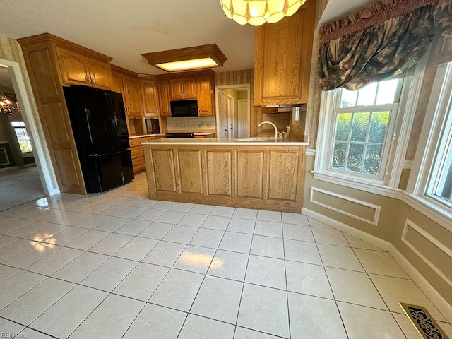
M 260 26 L 292 16 L 305 2 L 306 0 L 220 0 L 220 5 L 227 18 L 236 23 Z

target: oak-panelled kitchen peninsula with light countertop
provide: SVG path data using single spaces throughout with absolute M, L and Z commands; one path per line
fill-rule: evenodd
M 292 138 L 141 143 L 155 200 L 300 213 L 308 143 Z

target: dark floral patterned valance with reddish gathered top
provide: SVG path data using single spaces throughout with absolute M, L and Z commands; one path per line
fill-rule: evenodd
M 320 28 L 319 85 L 357 90 L 397 76 L 438 34 L 452 35 L 451 0 L 379 1 Z

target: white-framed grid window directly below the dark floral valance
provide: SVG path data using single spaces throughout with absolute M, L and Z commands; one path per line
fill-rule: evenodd
M 393 79 L 333 91 L 327 170 L 383 181 L 402 85 Z

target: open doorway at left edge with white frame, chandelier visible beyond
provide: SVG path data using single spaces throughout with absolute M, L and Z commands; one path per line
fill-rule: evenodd
M 59 194 L 45 160 L 27 90 L 15 61 L 0 59 L 0 210 Z M 7 104 L 7 105 L 6 105 Z

